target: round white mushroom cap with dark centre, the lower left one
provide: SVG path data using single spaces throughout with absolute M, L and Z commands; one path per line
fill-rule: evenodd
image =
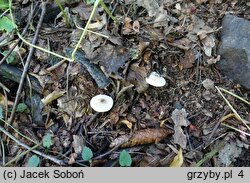
M 90 106 L 96 112 L 107 112 L 113 107 L 114 101 L 108 95 L 96 95 L 90 100 Z

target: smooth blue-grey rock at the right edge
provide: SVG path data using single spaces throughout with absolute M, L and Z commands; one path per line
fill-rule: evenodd
M 219 54 L 222 73 L 250 89 L 250 21 L 234 15 L 223 18 Z

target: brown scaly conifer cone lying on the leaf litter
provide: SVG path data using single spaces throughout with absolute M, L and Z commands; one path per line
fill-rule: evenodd
M 118 140 L 114 140 L 111 144 L 112 147 L 116 146 L 114 143 L 116 142 L 121 142 L 121 140 L 128 140 L 127 142 L 123 143 L 121 147 L 133 147 L 137 145 L 144 145 L 144 144 L 151 144 L 151 143 L 156 143 L 164 138 L 168 137 L 171 135 L 172 132 L 169 129 L 166 128 L 159 128 L 159 129 L 144 129 L 144 130 L 139 130 L 135 131 L 134 134 L 129 138 L 128 135 L 121 136 L 119 137 Z

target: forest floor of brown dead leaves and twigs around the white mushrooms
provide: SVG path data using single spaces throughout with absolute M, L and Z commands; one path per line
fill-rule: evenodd
M 115 144 L 117 148 L 111 150 L 111 142 L 122 135 L 149 128 L 168 128 L 173 135 L 159 142 L 156 139 L 156 143 L 126 147 L 133 159 L 132 166 L 169 166 L 180 148 L 184 158 L 182 166 L 194 166 L 221 143 L 229 144 L 227 148 L 232 153 L 223 155 L 224 145 L 202 166 L 249 166 L 249 137 L 220 125 L 220 120 L 232 111 L 213 84 L 209 82 L 207 87 L 203 82 L 209 79 L 206 81 L 211 80 L 214 85 L 249 100 L 249 91 L 221 75 L 215 63 L 219 60 L 216 58 L 223 16 L 232 13 L 249 19 L 249 4 L 223 0 L 152 1 L 157 2 L 157 8 L 156 4 L 149 2 L 113 1 L 107 5 L 118 18 L 119 25 L 115 25 L 102 8 L 98 9 L 92 21 L 91 30 L 108 38 L 88 33 L 80 49 L 84 50 L 88 59 L 101 66 L 111 79 L 107 89 L 98 88 L 79 63 L 64 62 L 51 69 L 60 59 L 36 50 L 29 72 L 35 74 L 43 91 L 41 94 L 30 94 L 26 87 L 21 102 L 26 103 L 30 111 L 16 113 L 13 126 L 37 141 L 41 141 L 46 133 L 52 133 L 53 146 L 49 150 L 38 149 L 65 160 L 68 163 L 66 166 L 119 166 L 118 156 L 124 148 Z M 25 26 L 25 17 L 31 6 L 31 2 L 14 4 L 20 31 Z M 69 20 L 74 20 L 81 27 L 86 24 L 93 7 L 84 2 L 64 6 L 68 7 Z M 52 8 L 51 5 L 48 8 Z M 81 31 L 76 29 L 74 23 L 72 28 L 68 28 L 62 16 L 55 21 L 56 15 L 45 15 L 38 45 L 65 55 L 63 49 L 73 48 Z M 35 15 L 33 26 L 37 24 L 38 17 Z M 34 30 L 30 28 L 25 38 L 30 42 L 33 34 Z M 8 46 L 1 49 L 8 49 Z M 29 48 L 23 44 L 19 48 L 26 50 L 22 54 L 25 60 Z M 16 67 L 22 68 L 22 65 L 17 64 Z M 162 74 L 167 85 L 161 88 L 146 85 L 145 77 L 151 71 Z M 18 84 L 2 76 L 0 79 L 10 89 L 6 94 L 8 101 L 13 102 Z M 42 104 L 31 107 L 30 100 L 39 103 L 53 91 L 64 94 L 43 107 Z M 2 89 L 0 92 L 4 101 L 6 95 Z M 114 107 L 107 113 L 98 114 L 89 106 L 90 99 L 100 93 L 116 99 Z M 250 121 L 249 106 L 228 94 L 225 96 L 239 115 Z M 179 135 L 174 130 L 176 124 L 171 117 L 175 109 L 185 109 L 185 119 L 189 121 L 189 124 L 181 127 Z M 224 122 L 249 133 L 236 118 L 230 117 Z M 15 132 L 10 132 L 32 146 Z M 24 151 L 13 141 L 5 140 L 4 134 L 2 139 L 8 161 Z M 81 158 L 80 152 L 84 146 L 94 153 L 91 164 Z M 80 147 L 80 151 L 77 147 Z M 31 155 L 22 156 L 13 166 L 25 166 Z M 54 164 L 46 158 L 40 163 L 40 166 L 51 165 Z

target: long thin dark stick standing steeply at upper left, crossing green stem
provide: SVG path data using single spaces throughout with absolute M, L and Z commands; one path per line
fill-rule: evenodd
M 42 13 L 41 13 L 39 22 L 38 22 L 37 27 L 36 27 L 36 32 L 35 32 L 34 38 L 32 40 L 32 44 L 35 44 L 36 41 L 37 41 L 38 34 L 39 34 L 40 28 L 42 26 L 43 17 L 44 17 L 44 15 L 46 13 L 46 4 L 47 4 L 47 2 L 42 3 Z M 12 108 L 12 111 L 11 111 L 11 115 L 10 115 L 10 118 L 9 118 L 9 123 L 10 124 L 12 123 L 12 120 L 13 120 L 14 115 L 15 115 L 16 107 L 17 107 L 17 104 L 18 104 L 20 96 L 21 96 L 21 92 L 22 92 L 22 89 L 23 89 L 23 84 L 24 84 L 24 81 L 25 81 L 26 76 L 27 76 L 27 72 L 28 72 L 28 69 L 29 69 L 29 66 L 30 66 L 30 63 L 31 63 L 31 58 L 32 58 L 34 50 L 35 50 L 34 47 L 30 48 L 29 55 L 27 57 L 25 65 L 24 65 L 23 73 L 22 73 L 22 76 L 21 76 L 20 84 L 18 86 L 18 90 L 17 90 L 17 94 L 16 94 L 16 98 L 15 98 L 15 102 L 14 102 L 14 105 L 13 105 L 13 108 Z

